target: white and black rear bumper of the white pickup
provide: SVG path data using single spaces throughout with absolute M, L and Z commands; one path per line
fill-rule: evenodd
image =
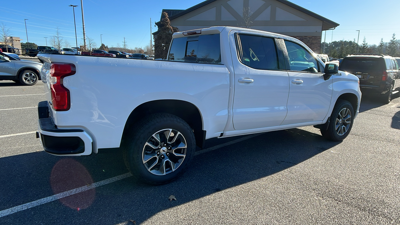
M 37 137 L 40 138 L 44 151 L 62 156 L 90 155 L 93 140 L 88 133 L 81 129 L 58 129 L 49 112 L 47 101 L 38 103 Z

